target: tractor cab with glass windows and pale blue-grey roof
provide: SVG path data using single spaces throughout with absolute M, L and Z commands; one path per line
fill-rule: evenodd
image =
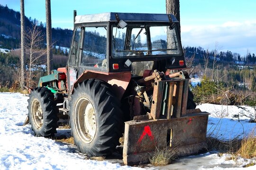
M 185 68 L 171 14 L 102 13 L 76 16 L 68 61 L 69 90 L 84 70 L 106 73 Z

